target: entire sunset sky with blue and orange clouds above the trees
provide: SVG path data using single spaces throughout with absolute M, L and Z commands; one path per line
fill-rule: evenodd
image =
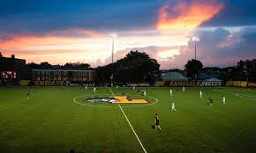
M 115 61 L 146 52 L 161 69 L 184 69 L 194 57 L 205 66 L 256 58 L 255 0 L 0 0 L 0 52 L 26 62 Z

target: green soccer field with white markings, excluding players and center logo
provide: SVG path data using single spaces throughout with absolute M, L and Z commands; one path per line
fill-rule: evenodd
M 130 88 L 0 87 L 0 152 L 253 152 L 256 91 L 241 88 L 139 88 L 148 104 L 85 98 Z M 169 95 L 173 90 L 173 96 Z M 30 98 L 26 92 L 30 90 Z M 203 98 L 200 98 L 200 91 Z M 222 96 L 226 104 L 222 105 Z M 213 98 L 213 106 L 207 99 Z M 176 112 L 171 112 L 174 101 Z M 158 113 L 162 131 L 154 130 Z M 133 131 L 134 130 L 134 131 Z M 137 137 L 137 136 L 138 137 Z

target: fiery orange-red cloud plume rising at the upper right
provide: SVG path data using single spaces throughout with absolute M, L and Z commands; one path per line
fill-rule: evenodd
M 213 18 L 222 8 L 223 5 L 215 0 L 194 0 L 192 4 L 182 2 L 174 6 L 164 4 L 159 10 L 156 26 L 158 29 L 196 28 Z

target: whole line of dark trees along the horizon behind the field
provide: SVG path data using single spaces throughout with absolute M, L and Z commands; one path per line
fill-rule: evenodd
M 254 61 L 253 61 L 254 62 Z M 255 63 L 256 65 L 256 63 Z M 169 71 L 178 71 L 191 79 L 202 79 L 202 74 L 211 75 L 218 73 L 222 80 L 249 80 L 256 81 L 256 66 L 250 61 L 238 62 L 237 66 L 227 68 L 205 67 L 198 60 L 189 60 L 184 65 L 184 70 L 173 69 Z M 246 67 L 245 67 L 246 66 Z M 95 70 L 96 84 L 109 84 L 111 79 L 114 83 L 142 83 L 154 84 L 156 74 L 160 72 L 160 64 L 153 58 L 150 58 L 144 52 L 130 51 L 124 58 L 117 62 L 109 63 L 105 66 L 91 68 L 88 63 L 67 62 L 64 65 L 51 65 L 49 62 L 40 64 L 31 62 L 26 64 L 26 70 L 31 69 L 79 69 Z

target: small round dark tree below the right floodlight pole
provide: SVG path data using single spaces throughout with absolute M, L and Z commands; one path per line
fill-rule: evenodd
M 197 79 L 200 70 L 203 68 L 203 64 L 198 60 L 192 59 L 185 64 L 184 68 L 186 70 L 187 76 Z

